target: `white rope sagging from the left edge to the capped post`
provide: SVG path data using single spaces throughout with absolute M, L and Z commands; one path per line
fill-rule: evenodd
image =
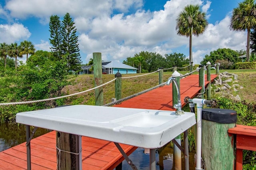
M 42 99 L 42 100 L 26 101 L 26 102 L 0 103 L 0 106 L 18 105 L 18 104 L 31 104 L 31 103 L 47 102 L 47 101 L 50 101 L 50 100 L 67 98 L 67 97 L 70 97 L 70 96 L 75 96 L 75 95 L 78 95 L 78 94 L 89 92 L 89 91 L 94 90 L 96 88 L 100 88 L 100 87 L 105 86 L 106 84 L 108 84 L 108 83 L 110 83 L 110 82 L 112 82 L 114 80 L 116 80 L 116 78 L 114 78 L 113 80 L 110 80 L 109 82 L 106 82 L 106 83 L 104 83 L 104 84 L 102 84 L 100 86 L 97 86 L 97 87 L 94 87 L 94 88 L 91 88 L 91 89 L 88 89 L 88 90 L 85 90 L 85 91 L 82 91 L 82 92 L 78 92 L 78 93 L 74 93 L 74 94 L 69 94 L 69 95 L 66 95 L 66 96 L 60 96 L 60 97 L 56 97 L 56 98 L 49 98 L 49 99 Z

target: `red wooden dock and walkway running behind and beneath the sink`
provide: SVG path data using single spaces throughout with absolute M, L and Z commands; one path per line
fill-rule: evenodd
M 211 75 L 211 81 L 217 75 Z M 188 76 L 180 80 L 180 93 L 182 106 L 186 96 L 194 98 L 201 88 L 198 87 L 198 74 Z M 206 81 L 205 86 L 209 82 Z M 114 107 L 130 107 L 142 109 L 172 109 L 172 86 L 163 86 L 150 92 L 136 96 L 122 102 Z M 56 134 L 55 131 L 32 139 L 31 145 L 31 166 L 32 169 L 56 169 Z M 120 144 L 127 155 L 131 154 L 137 147 Z M 82 137 L 82 168 L 83 169 L 104 169 L 112 170 L 124 158 L 113 142 Z M 26 169 L 26 146 L 22 143 L 18 146 L 0 152 L 0 170 L 23 170 Z

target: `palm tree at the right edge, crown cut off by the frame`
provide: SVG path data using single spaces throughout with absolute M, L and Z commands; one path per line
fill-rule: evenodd
M 247 31 L 246 61 L 250 60 L 250 30 L 256 26 L 256 4 L 254 0 L 244 0 L 233 9 L 230 29 Z

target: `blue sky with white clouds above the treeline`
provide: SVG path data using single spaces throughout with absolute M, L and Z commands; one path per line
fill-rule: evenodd
M 246 32 L 231 31 L 232 10 L 242 0 L 0 0 L 0 43 L 31 41 L 50 51 L 49 21 L 68 12 L 75 23 L 83 64 L 102 53 L 104 61 L 123 62 L 141 51 L 182 53 L 189 38 L 176 32 L 176 18 L 188 4 L 206 12 L 208 27 L 192 37 L 193 63 L 218 48 L 246 49 Z M 23 57 L 22 60 L 25 60 Z

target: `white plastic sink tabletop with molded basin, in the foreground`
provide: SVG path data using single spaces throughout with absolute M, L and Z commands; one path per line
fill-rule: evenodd
M 190 112 L 74 105 L 17 113 L 16 122 L 154 149 L 196 124 L 196 119 Z

